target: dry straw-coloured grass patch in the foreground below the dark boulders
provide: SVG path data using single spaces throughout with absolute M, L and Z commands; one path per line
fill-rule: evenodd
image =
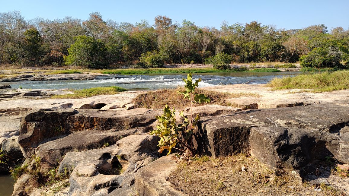
M 242 171 L 246 167 L 246 171 Z M 288 173 L 276 175 L 253 157 L 238 154 L 225 158 L 201 157 L 182 162 L 169 176 L 172 186 L 187 195 L 342 195 L 340 190 L 321 185 L 314 190 Z

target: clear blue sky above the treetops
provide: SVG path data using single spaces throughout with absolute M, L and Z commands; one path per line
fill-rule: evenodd
M 86 20 L 91 12 L 102 14 L 103 20 L 136 23 L 165 15 L 172 21 L 190 20 L 198 26 L 220 28 L 229 24 L 259 21 L 274 24 L 278 29 L 299 29 L 325 24 L 330 30 L 349 28 L 349 0 L 0 0 L 0 12 L 21 10 L 25 19 L 37 16 L 50 20 L 73 16 Z

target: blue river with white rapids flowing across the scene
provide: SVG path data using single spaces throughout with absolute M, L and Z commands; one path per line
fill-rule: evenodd
M 268 73 L 194 73 L 193 78 L 201 77 L 200 87 L 227 84 L 266 84 L 274 77 L 292 76 L 300 72 Z M 85 89 L 97 86 L 120 86 L 129 90 L 156 90 L 183 86 L 186 74 L 142 74 L 99 76 L 95 80 L 24 81 L 9 82 L 13 88 L 25 89 Z

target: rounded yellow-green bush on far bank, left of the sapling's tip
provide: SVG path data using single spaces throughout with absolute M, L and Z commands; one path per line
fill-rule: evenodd
M 165 65 L 164 58 L 157 51 L 143 53 L 138 65 L 146 68 L 159 68 Z

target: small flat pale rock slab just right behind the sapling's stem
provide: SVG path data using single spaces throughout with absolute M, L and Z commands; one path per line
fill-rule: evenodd
M 203 105 L 203 106 L 196 106 L 193 107 L 193 116 L 196 116 L 199 114 L 200 117 L 202 116 L 216 116 L 220 114 L 227 114 L 231 112 L 238 112 L 241 111 L 240 108 L 234 108 L 234 107 L 228 107 L 228 106 L 220 106 L 220 105 Z M 185 115 L 190 116 L 190 107 L 185 108 Z

